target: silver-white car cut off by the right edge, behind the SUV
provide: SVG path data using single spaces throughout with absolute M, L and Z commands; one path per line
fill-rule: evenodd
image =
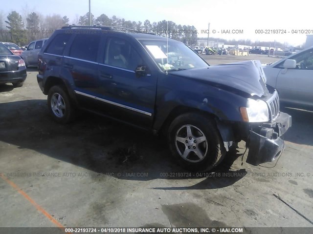
M 313 107 L 313 46 L 263 67 L 285 106 Z

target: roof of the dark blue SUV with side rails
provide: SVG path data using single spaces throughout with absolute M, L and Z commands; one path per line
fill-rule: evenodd
M 123 28 L 123 27 L 115 27 L 115 26 L 101 26 L 101 25 L 93 25 L 93 26 L 77 26 L 77 25 L 70 25 L 64 26 L 62 29 L 71 29 L 71 30 L 107 30 L 110 33 L 116 34 L 126 34 L 135 39 L 157 39 L 157 40 L 166 40 L 167 38 L 156 36 L 153 33 L 146 33 L 145 31 L 139 31 L 135 29 Z M 61 30 L 62 30 L 61 29 Z M 173 39 L 169 39 L 173 40 Z

